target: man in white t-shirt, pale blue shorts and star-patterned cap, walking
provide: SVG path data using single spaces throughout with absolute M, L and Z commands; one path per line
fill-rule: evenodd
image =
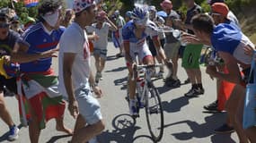
M 71 143 L 84 143 L 104 130 L 101 106 L 92 96 L 101 97 L 90 68 L 90 50 L 85 26 L 96 13 L 94 1 L 75 0 L 75 21 L 66 29 L 59 43 L 59 90 L 68 97 L 68 110 L 76 118 Z

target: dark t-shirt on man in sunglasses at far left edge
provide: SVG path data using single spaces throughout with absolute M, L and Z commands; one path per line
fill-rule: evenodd
M 11 55 L 15 43 L 28 45 L 26 42 L 22 41 L 19 33 L 10 29 L 7 38 L 4 40 L 0 39 L 0 57 L 3 55 Z

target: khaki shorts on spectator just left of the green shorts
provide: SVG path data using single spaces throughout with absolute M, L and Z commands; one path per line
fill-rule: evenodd
M 178 56 L 179 48 L 181 47 L 181 42 L 176 43 L 165 43 L 164 44 L 164 53 L 168 59 L 172 59 Z

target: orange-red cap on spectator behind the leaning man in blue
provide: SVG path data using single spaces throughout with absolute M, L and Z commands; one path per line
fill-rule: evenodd
M 224 3 L 215 3 L 211 5 L 212 13 L 219 13 L 227 18 L 227 14 L 229 12 L 229 8 Z

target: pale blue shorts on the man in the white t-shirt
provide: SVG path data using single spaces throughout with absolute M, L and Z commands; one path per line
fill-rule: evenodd
M 99 101 L 92 96 L 89 86 L 76 89 L 75 98 L 78 102 L 79 114 L 82 114 L 88 124 L 92 125 L 102 120 L 101 105 Z

